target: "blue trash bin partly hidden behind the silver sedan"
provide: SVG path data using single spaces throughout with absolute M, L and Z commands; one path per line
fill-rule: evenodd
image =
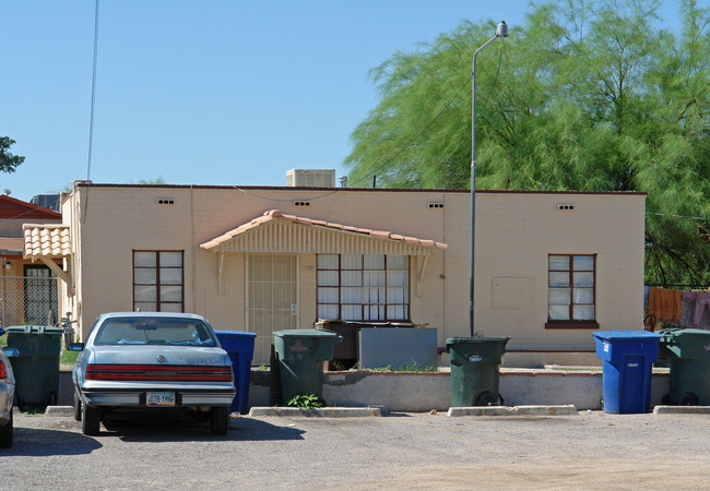
M 237 388 L 237 395 L 229 406 L 229 411 L 239 411 L 245 415 L 249 410 L 249 375 L 257 334 L 241 331 L 215 331 L 214 333 L 220 339 L 222 349 L 227 351 L 232 360 L 232 373 L 234 373 L 234 386 Z

